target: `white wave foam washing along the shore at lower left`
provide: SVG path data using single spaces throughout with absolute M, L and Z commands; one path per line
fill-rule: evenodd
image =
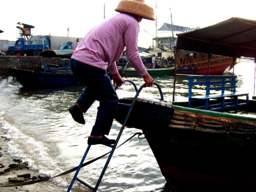
M 8 153 L 13 158 L 21 158 L 28 162 L 30 169 L 38 171 L 40 174 L 54 176 L 64 172 L 60 169 L 60 162 L 51 157 L 48 153 L 47 143 L 38 141 L 35 138 L 22 133 L 15 125 L 9 124 L 4 118 L 4 111 L 0 112 L 0 128 L 4 129 L 2 137 L 8 139 Z M 58 177 L 54 182 L 61 186 L 67 186 L 65 179 Z

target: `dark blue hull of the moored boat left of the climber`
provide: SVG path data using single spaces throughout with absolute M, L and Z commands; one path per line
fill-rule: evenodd
M 69 86 L 79 83 L 72 73 L 43 73 L 15 68 L 10 68 L 9 73 L 13 74 L 20 84 L 28 89 Z

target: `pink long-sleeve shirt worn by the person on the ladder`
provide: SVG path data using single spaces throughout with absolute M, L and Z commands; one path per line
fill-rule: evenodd
M 118 73 L 117 61 L 126 47 L 126 56 L 131 65 L 143 76 L 147 73 L 138 54 L 137 38 L 139 25 L 134 17 L 118 14 L 91 29 L 76 47 L 71 58 Z

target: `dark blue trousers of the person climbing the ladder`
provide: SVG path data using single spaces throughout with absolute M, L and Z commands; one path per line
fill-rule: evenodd
M 96 100 L 100 102 L 91 135 L 108 135 L 117 109 L 118 95 L 106 70 L 87 65 L 75 59 L 71 59 L 70 63 L 75 76 L 86 86 L 76 103 L 86 113 L 92 103 Z

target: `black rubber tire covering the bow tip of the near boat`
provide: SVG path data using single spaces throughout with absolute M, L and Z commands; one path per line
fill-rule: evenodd
M 133 98 L 119 99 L 119 103 L 131 104 Z M 123 124 L 129 107 L 118 105 L 115 120 Z M 171 102 L 138 98 L 126 123 L 126 127 L 137 129 L 166 128 L 173 116 Z

